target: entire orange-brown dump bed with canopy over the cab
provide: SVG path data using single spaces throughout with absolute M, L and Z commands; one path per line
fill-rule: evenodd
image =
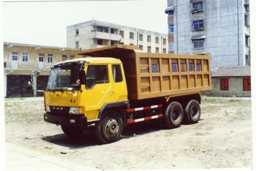
M 145 53 L 133 45 L 79 52 L 122 61 L 129 100 L 179 96 L 211 90 L 211 56 Z

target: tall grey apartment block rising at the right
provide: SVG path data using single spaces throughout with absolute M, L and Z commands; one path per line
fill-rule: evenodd
M 218 66 L 250 66 L 248 0 L 168 0 L 169 52 L 211 53 Z

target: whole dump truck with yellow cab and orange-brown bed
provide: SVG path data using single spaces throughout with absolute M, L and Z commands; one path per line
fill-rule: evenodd
M 166 128 L 200 119 L 201 94 L 211 90 L 210 54 L 145 53 L 134 45 L 78 52 L 54 64 L 44 93 L 44 121 L 77 138 L 95 128 L 101 144 L 123 128 L 161 119 Z

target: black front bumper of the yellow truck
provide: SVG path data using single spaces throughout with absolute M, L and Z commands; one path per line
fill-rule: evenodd
M 88 126 L 87 118 L 84 115 L 76 115 L 76 114 L 44 113 L 44 121 L 52 124 L 76 126 L 78 128 L 86 128 Z

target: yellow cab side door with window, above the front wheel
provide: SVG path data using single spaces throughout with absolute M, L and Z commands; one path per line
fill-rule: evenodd
M 97 119 L 99 110 L 105 103 L 114 101 L 113 82 L 109 64 L 89 64 L 86 71 L 86 91 L 84 110 L 88 120 Z

